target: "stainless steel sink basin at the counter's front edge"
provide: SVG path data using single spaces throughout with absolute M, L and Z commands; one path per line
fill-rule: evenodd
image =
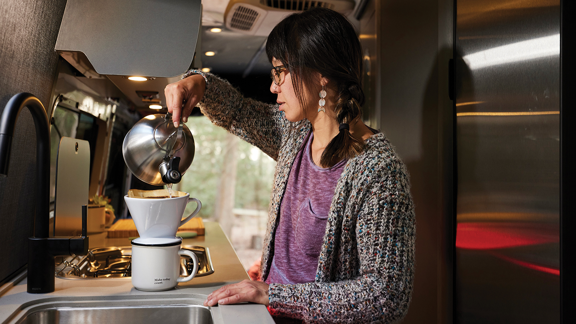
M 218 307 L 202 306 L 201 299 L 171 298 L 40 303 L 25 308 L 8 323 L 217 324 L 220 319 Z

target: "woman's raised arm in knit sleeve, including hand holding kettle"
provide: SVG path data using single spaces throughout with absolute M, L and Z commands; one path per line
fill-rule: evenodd
M 244 98 L 228 81 L 214 74 L 206 73 L 204 76 L 206 79 L 193 74 L 166 86 L 166 104 L 175 125 L 180 120 L 180 113 L 186 121 L 185 116 L 199 104 L 202 114 L 214 125 L 257 146 L 272 159 L 278 159 L 282 129 L 287 123 L 278 107 Z

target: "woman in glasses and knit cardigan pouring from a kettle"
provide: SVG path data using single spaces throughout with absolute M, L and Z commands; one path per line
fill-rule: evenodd
M 196 70 L 166 86 L 175 125 L 199 103 L 215 125 L 277 161 L 262 281 L 227 285 L 204 304 L 261 303 L 304 322 L 397 321 L 412 291 L 414 208 L 406 168 L 360 119 L 354 28 L 339 13 L 310 9 L 279 22 L 266 52 L 279 105 Z

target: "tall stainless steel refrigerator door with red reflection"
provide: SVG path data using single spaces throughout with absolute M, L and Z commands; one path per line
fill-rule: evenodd
M 457 1 L 460 323 L 559 322 L 559 5 Z

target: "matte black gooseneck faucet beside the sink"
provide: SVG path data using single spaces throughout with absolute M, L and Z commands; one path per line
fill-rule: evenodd
M 16 119 L 28 107 L 36 127 L 36 207 L 34 236 L 28 238 L 28 292 L 54 291 L 55 255 L 88 254 L 86 205 L 82 206 L 82 236 L 48 238 L 50 223 L 50 124 L 44 106 L 31 93 L 18 93 L 0 118 L 0 176 L 7 176 Z

